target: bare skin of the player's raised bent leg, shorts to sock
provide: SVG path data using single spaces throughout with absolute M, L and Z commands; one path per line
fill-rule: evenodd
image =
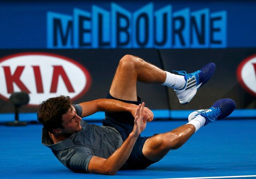
M 114 75 L 110 95 L 127 101 L 137 101 L 137 80 L 144 83 L 164 83 L 166 72 L 143 59 L 125 55 Z

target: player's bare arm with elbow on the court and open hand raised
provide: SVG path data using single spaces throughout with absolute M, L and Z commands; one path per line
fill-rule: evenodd
M 148 114 L 144 112 L 143 108 L 144 103 L 142 103 L 142 105 L 139 105 L 139 107 L 137 108 L 133 131 L 123 142 L 120 148 L 117 149 L 107 159 L 93 156 L 87 168 L 88 172 L 115 175 L 117 170 L 119 170 L 123 166 L 123 164 L 130 156 L 138 136 L 146 128 Z

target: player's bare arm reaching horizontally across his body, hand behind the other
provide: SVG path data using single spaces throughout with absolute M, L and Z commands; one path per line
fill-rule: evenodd
M 86 117 L 94 114 L 98 111 L 107 111 L 107 112 L 131 112 L 135 117 L 135 112 L 137 105 L 125 103 L 115 99 L 96 99 L 93 101 L 83 102 L 79 104 L 83 111 L 81 117 Z M 145 107 L 145 113 L 148 114 L 148 121 L 152 121 L 154 118 L 153 112 Z

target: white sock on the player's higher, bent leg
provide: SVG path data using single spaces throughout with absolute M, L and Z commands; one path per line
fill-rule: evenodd
M 166 80 L 162 85 L 171 87 L 173 89 L 182 89 L 184 87 L 186 81 L 184 76 L 182 75 L 175 75 L 168 71 L 166 72 Z

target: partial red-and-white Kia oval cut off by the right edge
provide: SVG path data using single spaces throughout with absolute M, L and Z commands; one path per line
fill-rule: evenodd
M 256 96 L 256 55 L 244 59 L 237 68 L 237 78 L 242 87 Z

